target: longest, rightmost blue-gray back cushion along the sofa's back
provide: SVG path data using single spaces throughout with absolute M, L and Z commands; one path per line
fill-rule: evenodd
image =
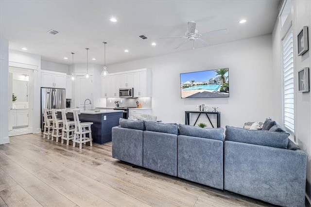
M 225 127 L 225 140 L 287 149 L 289 133 Z

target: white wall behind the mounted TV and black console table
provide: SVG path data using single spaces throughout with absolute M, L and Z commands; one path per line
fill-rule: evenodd
M 218 107 L 221 126 L 242 127 L 247 121 L 274 116 L 271 35 L 109 65 L 109 73 L 152 68 L 152 111 L 163 122 L 185 123 L 195 105 Z M 229 98 L 180 98 L 180 73 L 229 68 Z

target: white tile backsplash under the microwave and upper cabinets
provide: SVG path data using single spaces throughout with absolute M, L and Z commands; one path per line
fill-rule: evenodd
M 140 98 L 107 98 L 106 106 L 115 107 L 115 101 L 119 101 L 120 107 L 133 106 L 136 107 L 136 101 L 141 104 L 142 108 L 152 108 L 151 107 L 151 97 L 140 97 Z M 121 103 L 122 101 L 122 103 Z

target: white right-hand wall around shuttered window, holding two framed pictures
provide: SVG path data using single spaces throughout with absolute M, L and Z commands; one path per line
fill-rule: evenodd
M 294 36 L 294 74 L 295 74 L 295 140 L 300 148 L 308 155 L 306 195 L 311 202 L 311 93 L 299 93 L 297 71 L 303 67 L 311 67 L 311 1 L 292 1 L 292 22 Z M 303 56 L 297 56 L 297 35 L 303 26 L 309 27 L 309 50 Z M 277 120 L 282 120 L 282 68 L 281 68 L 281 32 L 277 19 L 272 34 L 273 41 L 273 79 L 275 88 L 275 114 Z

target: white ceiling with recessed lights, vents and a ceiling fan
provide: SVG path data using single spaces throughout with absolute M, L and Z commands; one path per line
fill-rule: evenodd
M 280 0 L 0 0 L 0 36 L 9 48 L 41 55 L 61 64 L 106 64 L 160 56 L 192 49 L 183 39 L 188 22 L 199 33 L 227 28 L 229 32 L 203 37 L 211 45 L 272 33 Z M 118 22 L 109 18 L 115 16 Z M 241 19 L 247 22 L 239 24 Z M 59 33 L 47 33 L 54 29 Z M 138 36 L 144 34 L 146 40 Z M 157 45 L 151 46 L 152 42 Z M 195 45 L 199 48 L 199 45 Z M 124 49 L 129 52 L 125 53 Z M 68 57 L 68 60 L 64 60 Z M 96 61 L 91 60 L 96 58 Z

